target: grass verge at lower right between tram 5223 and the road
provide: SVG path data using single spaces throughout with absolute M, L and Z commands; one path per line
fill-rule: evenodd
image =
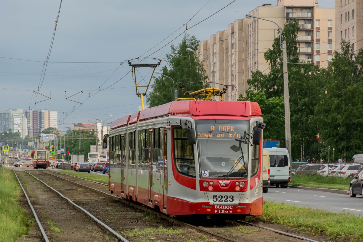
M 292 226 L 309 234 L 325 234 L 329 239 L 353 238 L 363 241 L 363 217 L 333 213 L 322 209 L 264 201 L 262 218 L 272 223 Z

